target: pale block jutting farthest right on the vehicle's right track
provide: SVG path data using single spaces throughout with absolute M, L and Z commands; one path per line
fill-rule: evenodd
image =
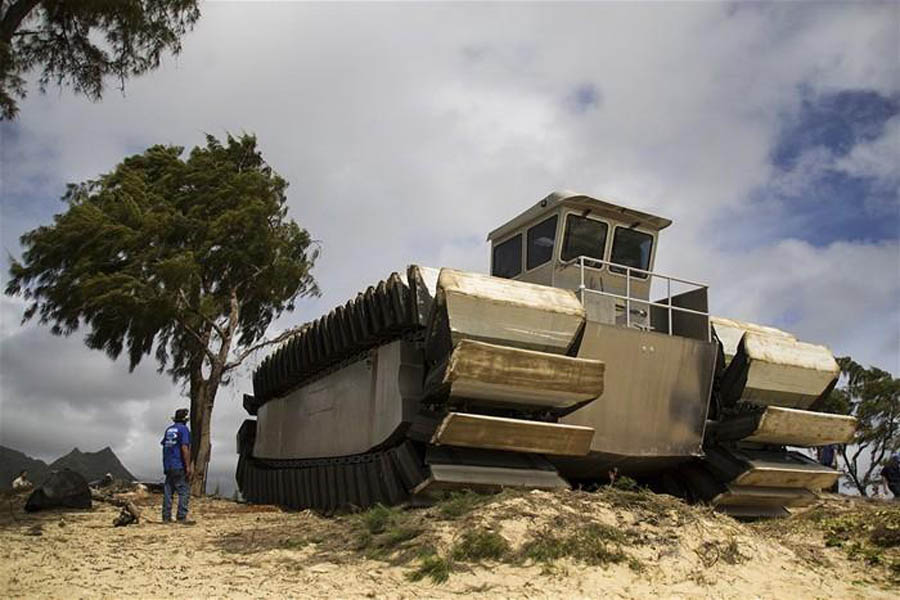
M 750 429 L 752 427 L 752 429 Z M 768 406 L 755 415 L 725 421 L 722 439 L 788 446 L 845 444 L 856 431 L 856 419 L 845 415 Z M 742 435 L 744 432 L 749 432 Z M 729 433 L 733 435 L 729 436 Z M 737 437 L 740 436 L 740 437 Z

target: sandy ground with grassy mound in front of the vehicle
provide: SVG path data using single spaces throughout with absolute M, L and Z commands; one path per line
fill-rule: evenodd
M 203 499 L 193 504 L 196 524 L 178 526 L 163 525 L 160 497 L 145 495 L 136 498 L 142 522 L 121 528 L 111 526 L 118 509 L 105 504 L 27 515 L 21 498 L 2 502 L 4 598 L 893 599 L 900 591 L 891 537 L 900 506 L 836 497 L 757 524 L 619 490 L 464 494 L 333 517 Z

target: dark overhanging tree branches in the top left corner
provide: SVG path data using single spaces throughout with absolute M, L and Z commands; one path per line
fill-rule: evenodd
M 18 112 L 23 75 L 40 67 L 51 81 L 99 100 L 107 77 L 128 77 L 178 54 L 200 17 L 197 0 L 0 0 L 0 118 Z

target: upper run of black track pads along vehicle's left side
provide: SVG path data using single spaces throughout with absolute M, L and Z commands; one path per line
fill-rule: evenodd
M 411 275 L 410 275 L 411 276 Z M 370 348 L 422 327 L 418 282 L 392 273 L 343 306 L 307 324 L 253 373 L 249 410 L 284 396 L 317 374 Z

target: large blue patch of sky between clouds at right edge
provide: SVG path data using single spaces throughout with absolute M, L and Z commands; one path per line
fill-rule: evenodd
M 784 119 L 772 148 L 772 177 L 751 195 L 756 212 L 752 224 L 742 222 L 740 237 L 751 245 L 795 238 L 815 246 L 897 239 L 900 170 L 876 177 L 849 172 L 840 160 L 885 134 L 900 114 L 900 98 L 871 90 L 801 93 L 799 110 Z

